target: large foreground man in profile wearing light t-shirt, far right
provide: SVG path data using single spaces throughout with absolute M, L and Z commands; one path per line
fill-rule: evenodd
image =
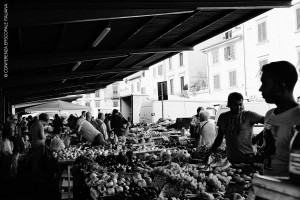
M 259 91 L 267 103 L 277 106 L 266 113 L 264 121 L 265 127 L 270 127 L 270 134 L 264 137 L 266 149 L 271 149 L 270 154 L 273 154 L 271 169 L 264 170 L 265 175 L 289 175 L 289 147 L 295 132 L 293 127 L 300 124 L 300 105 L 293 95 L 297 80 L 296 68 L 287 61 L 272 62 L 262 67 Z

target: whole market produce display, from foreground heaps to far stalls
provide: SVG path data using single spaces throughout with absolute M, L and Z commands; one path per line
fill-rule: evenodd
M 87 144 L 53 152 L 58 161 L 74 160 L 85 194 L 98 199 L 226 199 L 247 197 L 254 165 L 232 165 L 225 146 L 205 158 L 209 148 L 172 137 L 160 125 L 136 127 L 109 147 Z M 161 137 L 154 143 L 152 138 Z M 179 136 L 180 137 L 180 136 Z M 176 139 L 175 139 L 176 138 Z M 76 178 L 75 178 L 76 179 Z M 84 198 L 88 198 L 85 196 Z

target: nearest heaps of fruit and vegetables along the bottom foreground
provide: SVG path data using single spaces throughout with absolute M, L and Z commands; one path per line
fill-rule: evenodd
M 161 153 L 166 155 L 178 155 L 189 157 L 187 152 L 179 150 Z M 187 154 L 187 155 L 186 155 Z M 161 155 L 157 155 L 159 159 Z M 151 154 L 144 155 L 149 158 Z M 81 161 L 78 161 L 81 160 Z M 214 158 L 218 160 L 218 158 Z M 83 161 L 85 162 L 84 164 Z M 80 165 L 86 178 L 85 182 L 90 189 L 93 199 L 106 197 L 107 199 L 161 199 L 170 197 L 162 194 L 164 188 L 158 187 L 157 178 L 163 179 L 163 185 L 180 188 L 178 199 L 243 199 L 247 196 L 247 190 L 251 186 L 252 172 L 236 169 L 225 160 L 216 167 L 205 169 L 203 165 L 169 162 L 164 166 L 151 168 L 143 161 L 128 151 L 119 155 L 99 155 L 93 161 L 90 158 L 80 156 L 77 164 Z M 217 163 L 217 162 L 214 162 Z M 224 164 L 226 163 L 226 164 Z M 163 178 L 162 178 L 163 177 Z M 238 186 L 238 187 L 237 187 Z M 234 189 L 238 188 L 238 189 Z M 238 197 L 238 198 L 237 198 Z

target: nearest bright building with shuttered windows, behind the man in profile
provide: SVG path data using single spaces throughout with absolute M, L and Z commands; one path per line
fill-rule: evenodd
M 264 64 L 286 60 L 299 73 L 300 1 L 290 8 L 272 9 L 196 49 L 207 55 L 210 96 L 226 98 L 235 91 L 249 99 L 261 99 L 260 70 Z M 300 96 L 299 81 L 294 94 Z

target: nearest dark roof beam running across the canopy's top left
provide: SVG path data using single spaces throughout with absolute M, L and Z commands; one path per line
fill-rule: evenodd
M 18 3 L 20 6 L 22 3 Z M 143 7 L 137 8 L 116 8 L 116 9 L 105 9 L 104 7 L 97 8 L 97 3 L 94 8 L 84 9 L 88 4 L 85 2 L 79 8 L 62 8 L 59 6 L 62 3 L 56 2 L 56 8 L 29 8 L 29 3 L 23 4 L 23 8 L 14 8 L 15 6 L 10 4 L 9 8 L 9 26 L 10 27 L 25 27 L 25 26 L 38 26 L 38 25 L 52 25 L 52 24 L 67 24 L 67 23 L 79 23 L 88 21 L 99 21 L 99 20 L 117 20 L 124 18 L 136 18 L 136 17 L 151 17 L 160 15 L 176 15 L 183 13 L 193 12 L 197 7 L 193 9 L 187 8 L 165 8 L 165 9 L 145 9 Z M 44 3 L 41 3 L 44 4 Z M 52 3 L 53 4 L 53 3 Z M 49 6 L 53 6 L 51 3 Z M 80 4 L 80 3 L 76 3 Z M 114 4 L 118 4 L 117 2 Z M 73 5 L 74 6 L 74 5 Z M 76 5 L 75 5 L 76 6 Z M 92 5 L 91 5 L 92 6 Z M 100 5 L 102 6 L 102 5 Z M 34 7 L 34 6 L 32 6 Z M 63 7 L 63 6 L 62 6 Z M 65 6 L 66 7 L 66 6 Z M 70 7 L 70 6 L 69 6 Z

